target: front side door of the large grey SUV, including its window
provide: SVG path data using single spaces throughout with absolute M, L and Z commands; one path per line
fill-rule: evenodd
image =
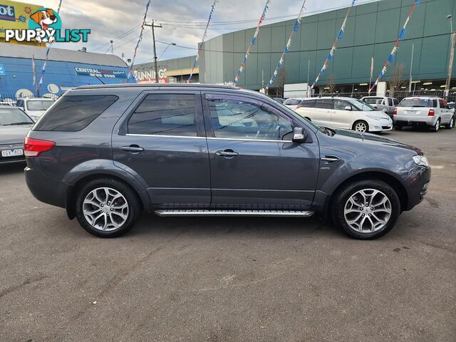
M 208 92 L 204 123 L 211 167 L 212 206 L 305 209 L 314 198 L 319 150 L 292 142 L 294 123 L 278 106 L 248 95 Z M 304 123 L 299 123 L 306 128 Z

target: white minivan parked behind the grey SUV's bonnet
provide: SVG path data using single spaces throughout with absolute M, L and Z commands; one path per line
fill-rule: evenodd
M 317 125 L 357 132 L 393 129 L 393 120 L 383 111 L 356 98 L 309 98 L 302 100 L 296 113 Z

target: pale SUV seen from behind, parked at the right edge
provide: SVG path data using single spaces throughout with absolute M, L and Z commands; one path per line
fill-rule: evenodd
M 437 132 L 440 125 L 452 128 L 455 125 L 455 113 L 443 98 L 413 96 L 400 101 L 394 111 L 396 130 L 404 126 L 426 125 Z

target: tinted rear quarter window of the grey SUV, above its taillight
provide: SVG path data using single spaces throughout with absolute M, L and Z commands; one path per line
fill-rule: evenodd
M 50 108 L 33 130 L 77 132 L 83 130 L 107 110 L 118 97 L 115 95 L 67 95 Z

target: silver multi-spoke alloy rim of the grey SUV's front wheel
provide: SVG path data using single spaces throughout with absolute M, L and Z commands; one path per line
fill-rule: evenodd
M 391 214 L 390 199 L 376 189 L 364 189 L 351 195 L 343 209 L 348 226 L 360 233 L 373 233 L 383 229 Z

